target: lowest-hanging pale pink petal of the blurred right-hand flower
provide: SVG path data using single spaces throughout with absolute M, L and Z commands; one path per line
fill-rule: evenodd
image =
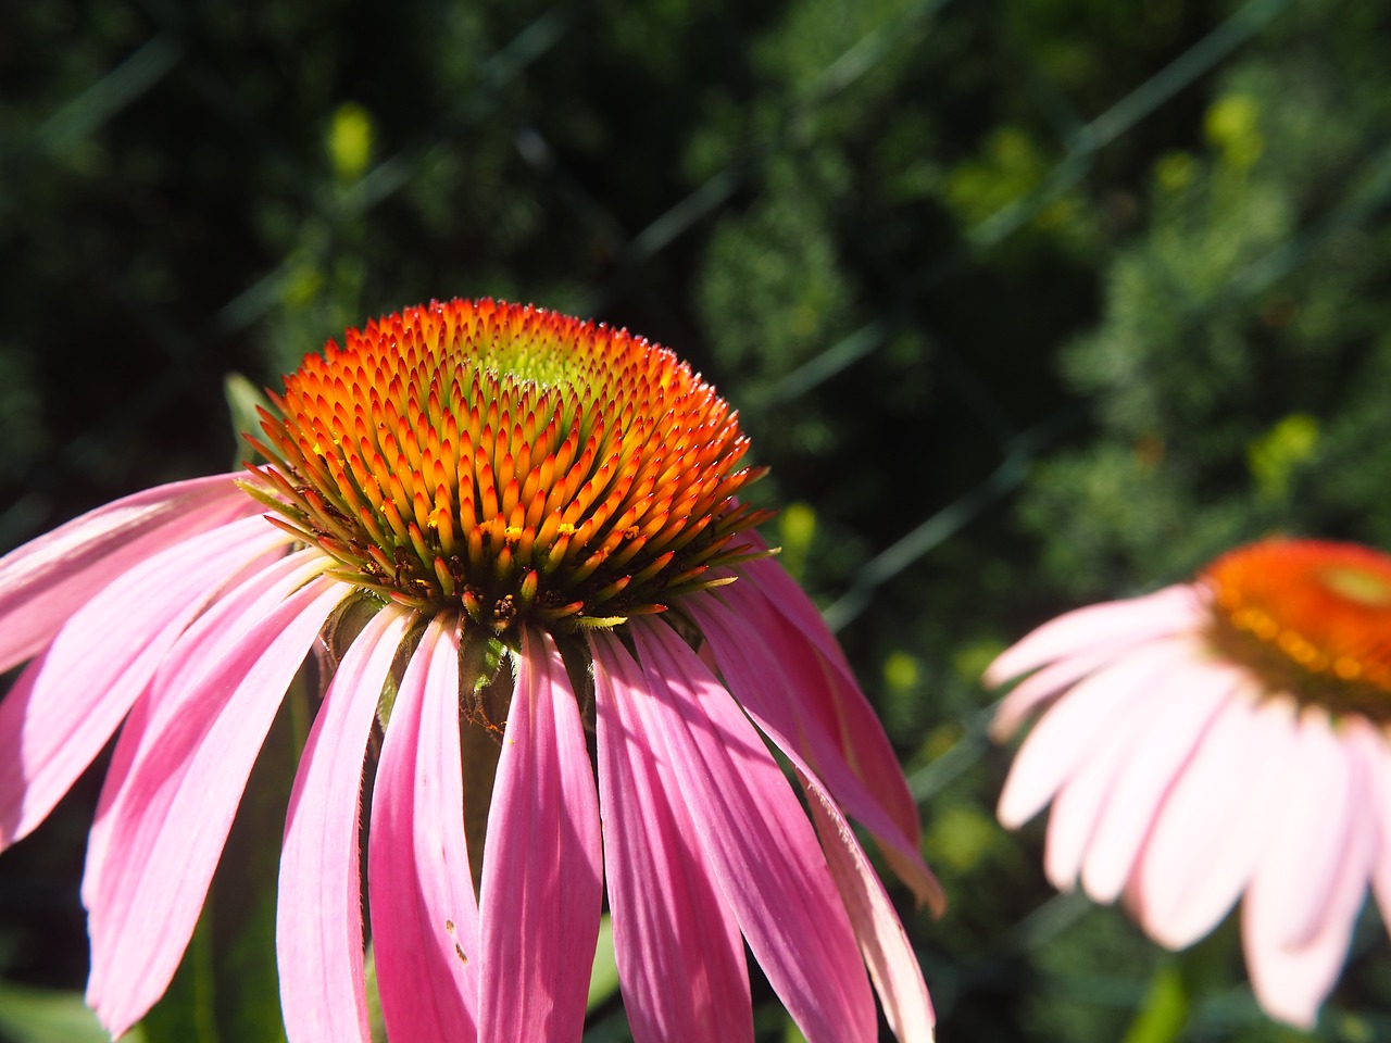
M 1319 722 L 1319 715 L 1306 711 L 1313 720 L 1305 723 L 1302 731 L 1308 736 L 1314 729 L 1327 729 L 1327 722 Z M 1344 745 L 1328 733 L 1333 745 Z M 1323 745 L 1323 741 L 1317 743 Z M 1301 772 L 1301 779 L 1312 782 L 1312 766 L 1316 762 L 1328 765 L 1327 751 L 1320 751 L 1305 761 L 1309 768 Z M 1328 807 L 1330 819 L 1341 826 L 1341 834 L 1319 823 L 1316 832 L 1301 829 L 1310 825 L 1292 819 L 1271 847 L 1252 880 L 1242 908 L 1242 941 L 1246 953 L 1246 968 L 1251 986 L 1260 1005 L 1273 1017 L 1302 1028 L 1313 1028 L 1319 1007 L 1323 1004 L 1348 955 L 1348 943 L 1358 911 L 1367 891 L 1367 875 L 1372 872 L 1377 841 L 1376 823 L 1367 814 L 1370 794 L 1366 791 L 1366 766 L 1353 747 L 1342 750 L 1345 768 L 1342 773 L 1345 789 L 1335 782 L 1323 791 L 1326 798 L 1338 797 L 1342 808 Z M 1296 789 L 1299 783 L 1296 782 Z M 1317 786 L 1314 789 L 1319 789 Z M 1299 840 L 1303 840 L 1299 844 Z M 1287 866 L 1276 866 L 1274 859 L 1296 854 L 1295 868 L 1323 854 L 1317 847 L 1333 844 L 1327 854 L 1331 864 L 1328 876 L 1316 876 L 1305 882 L 1305 894 L 1294 897 L 1288 887 L 1294 883 Z M 1295 851 L 1299 844 L 1299 851 Z M 1291 898 L 1298 907 L 1296 914 L 1281 915 L 1277 908 L 1281 896 Z

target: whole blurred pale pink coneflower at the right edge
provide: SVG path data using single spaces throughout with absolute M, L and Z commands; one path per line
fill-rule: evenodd
M 1313 1025 L 1369 880 L 1391 914 L 1391 556 L 1252 544 L 1043 624 L 986 680 L 1022 674 L 997 737 L 1046 709 L 999 816 L 1017 827 L 1052 801 L 1049 880 L 1123 898 L 1170 948 L 1241 898 L 1257 1001 Z

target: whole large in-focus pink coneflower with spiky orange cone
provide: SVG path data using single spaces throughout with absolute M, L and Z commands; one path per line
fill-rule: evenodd
M 0 560 L 0 670 L 32 659 L 0 704 L 0 848 L 120 729 L 82 883 L 88 1001 L 113 1033 L 166 990 L 317 649 L 331 681 L 278 886 L 294 1043 L 369 1039 L 363 807 L 394 1043 L 579 1039 L 605 883 L 640 1043 L 751 1040 L 744 941 L 808 1040 L 874 1039 L 871 980 L 900 1039 L 931 1039 L 846 818 L 939 903 L 917 808 L 754 533 L 758 471 L 707 382 L 626 331 L 455 300 L 348 331 L 273 399 L 264 466 Z M 481 868 L 460 727 L 499 747 Z

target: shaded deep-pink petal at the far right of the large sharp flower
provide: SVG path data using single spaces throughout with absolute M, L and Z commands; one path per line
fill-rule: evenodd
M 782 567 L 778 566 L 782 574 Z M 787 580 L 791 581 L 790 579 Z M 796 584 L 794 584 L 796 585 Z M 821 654 L 821 644 L 808 644 L 805 630 L 789 626 L 789 617 L 775 611 L 773 602 L 758 591 L 753 584 L 743 580 L 729 587 L 721 588 L 721 598 L 729 605 L 730 612 L 723 613 L 726 622 L 734 623 L 736 631 L 743 634 L 741 644 L 750 645 L 754 641 L 766 641 L 773 656 L 787 670 L 789 687 L 783 695 L 783 715 L 794 715 L 805 727 L 808 736 L 818 733 L 829 734 L 833 748 L 817 748 L 807 752 L 815 757 L 817 772 L 823 779 L 830 779 L 835 768 L 832 761 L 844 762 L 854 776 L 869 791 L 871 800 L 883 814 L 889 816 L 896 832 L 903 837 L 903 844 L 889 840 L 892 830 L 881 829 L 872 822 L 865 822 L 876 830 L 876 837 L 887 843 L 885 848 L 894 871 L 918 893 L 919 900 L 929 904 L 938 901 L 936 880 L 931 873 L 924 873 L 926 866 L 914 866 L 918 846 L 922 843 L 922 826 L 918 820 L 918 805 L 908 793 L 908 783 L 899 768 L 899 758 L 894 755 L 889 737 L 879 723 L 878 715 L 865 700 L 864 693 L 855 684 L 854 676 L 844 666 L 844 656 L 835 659 Z M 801 595 L 805 601 L 805 595 Z M 707 605 L 711 602 L 707 602 Z M 716 602 L 718 604 L 718 602 Z M 807 602 L 810 606 L 810 602 Z M 811 609 L 812 615 L 815 613 Z M 819 616 L 817 616 L 819 623 Z M 807 623 L 811 627 L 811 623 Z M 741 627 L 741 630 L 740 630 Z M 825 641 L 835 645 L 825 626 L 821 624 Z M 726 647 L 729 642 L 725 642 Z M 718 649 L 716 649 L 718 652 Z M 765 695 L 775 695 L 769 687 L 761 686 Z M 776 701 L 765 698 L 765 708 L 776 709 Z M 819 720 L 822 729 L 812 729 L 812 722 Z M 791 738 L 791 736 L 789 736 Z M 835 750 L 840 755 L 835 757 Z M 837 800 L 847 808 L 846 800 L 853 800 L 850 794 L 837 794 Z M 861 816 L 864 808 L 851 808 L 855 818 Z M 882 836 L 881 836 L 882 834 Z M 904 848 L 899 851 L 896 848 Z

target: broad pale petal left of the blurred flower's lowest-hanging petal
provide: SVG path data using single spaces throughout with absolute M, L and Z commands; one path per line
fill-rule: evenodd
M 1131 912 L 1170 948 L 1192 944 L 1227 915 L 1284 814 L 1294 705 L 1259 698 L 1238 694 L 1213 720 L 1127 884 Z

